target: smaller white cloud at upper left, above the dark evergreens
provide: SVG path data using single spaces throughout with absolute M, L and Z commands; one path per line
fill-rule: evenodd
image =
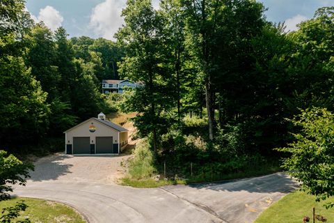
M 59 13 L 59 11 L 52 6 L 46 6 L 45 8 L 41 8 L 38 17 L 36 17 L 33 14 L 30 15 L 33 21 L 35 22 L 43 21 L 44 24 L 47 27 L 49 27 L 49 29 L 51 29 L 52 31 L 55 31 L 58 27 L 60 27 L 61 23 L 64 21 L 64 18 L 63 16 L 61 16 L 61 13 Z

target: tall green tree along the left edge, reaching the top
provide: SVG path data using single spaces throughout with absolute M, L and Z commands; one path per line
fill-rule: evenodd
M 6 147 L 22 139 L 35 141 L 47 129 L 47 93 L 22 59 L 26 48 L 20 37 L 26 29 L 21 29 L 20 19 L 24 13 L 24 1 L 0 4 L 0 143 Z

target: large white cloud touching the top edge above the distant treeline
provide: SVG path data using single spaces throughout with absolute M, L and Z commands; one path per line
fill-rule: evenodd
M 122 26 L 124 20 L 121 17 L 125 1 L 106 0 L 97 4 L 90 15 L 90 27 L 103 38 L 113 40 L 113 35 Z

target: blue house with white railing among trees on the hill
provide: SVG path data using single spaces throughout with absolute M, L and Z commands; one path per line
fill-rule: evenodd
M 142 82 L 130 82 L 128 79 L 103 79 L 102 93 L 123 93 L 125 86 L 135 89 L 143 86 Z

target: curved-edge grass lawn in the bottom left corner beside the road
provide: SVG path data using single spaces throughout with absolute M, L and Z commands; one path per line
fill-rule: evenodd
M 0 202 L 0 210 L 8 206 L 15 206 L 17 201 L 24 201 L 28 208 L 22 212 L 21 217 L 17 220 L 24 220 L 29 217 L 31 222 L 48 222 L 48 223 L 84 223 L 86 220 L 77 213 L 76 210 L 62 203 L 45 201 L 30 198 L 13 198 L 8 201 Z

